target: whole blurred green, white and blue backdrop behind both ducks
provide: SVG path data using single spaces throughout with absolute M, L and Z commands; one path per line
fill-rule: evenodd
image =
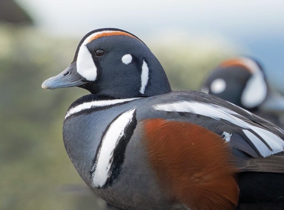
M 62 141 L 68 106 L 47 91 L 89 31 L 121 28 L 160 60 L 172 89 L 198 90 L 222 60 L 253 56 L 284 93 L 284 1 L 0 0 L 0 209 L 103 209 Z

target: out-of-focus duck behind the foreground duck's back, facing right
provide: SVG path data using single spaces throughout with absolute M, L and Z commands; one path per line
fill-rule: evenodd
M 284 97 L 271 90 L 262 66 L 253 58 L 225 60 L 212 71 L 201 91 L 232 102 L 284 128 Z

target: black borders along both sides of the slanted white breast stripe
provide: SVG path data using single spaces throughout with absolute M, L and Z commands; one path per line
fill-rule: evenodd
M 107 127 L 105 128 L 105 130 L 102 134 L 101 140 L 100 140 L 100 144 L 98 145 L 96 155 L 94 156 L 94 159 L 93 159 L 93 165 L 92 165 L 92 168 L 91 168 L 91 171 L 90 171 L 90 178 L 92 178 L 92 176 L 93 176 L 93 174 L 96 170 L 97 161 L 98 161 L 98 158 L 99 158 L 99 155 L 100 155 L 100 149 L 102 147 L 102 142 L 103 142 L 103 139 L 105 137 L 107 130 L 110 128 L 111 124 L 113 124 L 113 122 L 116 121 L 124 113 L 125 112 L 116 116 L 113 119 L 113 121 L 111 121 L 111 123 L 108 124 Z M 118 175 L 121 171 L 122 163 L 124 161 L 126 146 L 129 143 L 129 140 L 131 139 L 131 136 L 132 136 L 136 126 L 137 126 L 136 110 L 134 110 L 131 122 L 124 128 L 123 136 L 118 140 L 118 143 L 115 146 L 115 149 L 113 150 L 113 156 L 110 159 L 111 166 L 110 166 L 108 178 L 107 178 L 105 184 L 102 187 L 99 187 L 99 188 L 106 188 L 108 186 L 111 186 L 113 181 L 118 177 Z

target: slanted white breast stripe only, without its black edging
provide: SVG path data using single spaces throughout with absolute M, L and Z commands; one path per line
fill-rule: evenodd
M 124 129 L 132 121 L 135 109 L 124 112 L 119 116 L 105 133 L 97 155 L 96 169 L 93 174 L 93 185 L 102 187 L 110 177 L 110 166 L 113 163 L 113 151 L 124 134 Z

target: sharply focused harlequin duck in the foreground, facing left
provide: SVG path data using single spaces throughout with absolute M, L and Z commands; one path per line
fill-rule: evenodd
M 86 184 L 120 209 L 235 209 L 284 202 L 284 132 L 210 94 L 171 91 L 133 34 L 91 31 L 45 89 L 78 86 L 63 124 Z M 269 203 L 269 204 L 267 204 Z

